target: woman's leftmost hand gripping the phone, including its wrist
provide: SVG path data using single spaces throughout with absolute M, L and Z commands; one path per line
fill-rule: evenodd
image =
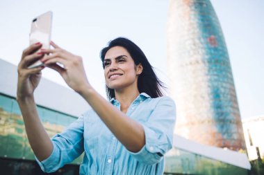
M 28 68 L 28 66 L 44 57 L 43 53 L 37 53 L 41 46 L 40 43 L 32 44 L 23 51 L 22 59 L 17 66 L 17 100 L 32 97 L 40 82 L 41 71 L 44 66 L 37 68 Z

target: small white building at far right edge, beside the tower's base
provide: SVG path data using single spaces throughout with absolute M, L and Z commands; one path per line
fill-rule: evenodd
M 249 160 L 264 159 L 264 116 L 242 120 Z

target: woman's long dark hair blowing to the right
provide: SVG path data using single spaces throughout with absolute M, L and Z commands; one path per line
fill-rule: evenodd
M 163 82 L 161 82 L 156 74 L 154 73 L 153 67 L 149 64 L 147 57 L 142 52 L 142 50 L 129 39 L 124 37 L 118 37 L 108 43 L 108 46 L 101 50 L 101 61 L 104 67 L 104 58 L 106 56 L 106 52 L 115 46 L 122 46 L 126 48 L 126 50 L 131 55 L 135 65 L 142 64 L 143 71 L 138 76 L 138 91 L 140 93 L 147 93 L 151 98 L 158 98 L 163 96 L 163 90 L 165 90 L 165 86 Z M 110 89 L 106 86 L 106 93 L 108 98 L 115 98 L 115 89 Z

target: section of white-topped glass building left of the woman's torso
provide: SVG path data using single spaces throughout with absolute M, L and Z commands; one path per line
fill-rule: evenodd
M 17 66 L 0 59 L 0 169 L 4 174 L 44 174 L 35 162 L 16 97 Z M 38 113 L 49 136 L 63 131 L 90 109 L 74 91 L 42 78 L 34 93 Z M 56 174 L 79 174 L 82 156 Z

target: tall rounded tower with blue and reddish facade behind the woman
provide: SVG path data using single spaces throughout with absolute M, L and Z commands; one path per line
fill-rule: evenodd
M 205 145 L 245 149 L 229 55 L 209 0 L 171 0 L 168 74 L 176 133 Z

